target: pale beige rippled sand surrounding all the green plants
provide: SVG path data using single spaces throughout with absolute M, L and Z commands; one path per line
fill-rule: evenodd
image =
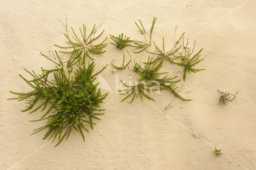
M 68 25 L 74 28 L 82 23 L 91 28 L 105 19 L 104 36 L 123 32 L 142 40 L 134 21 L 141 19 L 149 29 L 155 16 L 153 40 L 160 43 L 165 36 L 166 45 L 172 47 L 174 26 L 178 25 L 176 35 L 186 32 L 186 38 L 191 38 L 246 0 L 11 1 L 24 11 L 1 0 L 0 167 L 3 169 L 10 168 L 47 143 L 41 140 L 43 133 L 29 135 L 42 125 L 28 122 L 37 119 L 40 113 L 21 113 L 24 103 L 6 99 L 12 96 L 9 90 L 28 90 L 18 77 L 19 73 L 28 76 L 23 68 L 40 71 L 40 66 L 53 67 L 34 49 L 46 51 L 54 49 L 54 43 L 64 43 L 57 33 L 64 32 L 58 18 L 64 21 L 65 13 Z M 192 101 L 176 99 L 174 107 L 166 110 L 166 102 L 174 99 L 171 93 L 154 95 L 156 102 L 146 100 L 248 169 L 256 169 L 255 7 L 256 1 L 250 0 L 192 38 L 191 44 L 196 40 L 196 48 L 204 48 L 205 60 L 198 67 L 206 69 L 188 74 L 185 83 L 178 83 L 182 87 L 181 94 Z M 127 49 L 132 53 L 132 48 Z M 120 62 L 126 51 L 111 44 L 106 50 L 102 56 L 94 55 L 106 64 L 114 58 Z M 132 57 L 144 59 L 147 55 L 133 54 Z M 97 69 L 103 67 L 98 61 L 96 66 Z M 164 66 L 171 73 L 175 70 L 170 63 Z M 125 71 L 112 74 L 106 69 L 101 74 L 108 77 L 112 91 L 115 91 L 116 74 L 129 80 Z M 176 74 L 181 79 L 182 69 L 177 68 Z M 217 89 L 222 87 L 232 93 L 239 90 L 237 99 L 226 107 L 217 105 Z M 212 146 L 147 103 L 139 99 L 132 104 L 120 103 L 122 96 L 112 93 L 105 103 L 112 99 L 105 107 L 102 121 L 86 134 L 86 142 L 74 132 L 57 148 L 47 144 L 14 169 L 243 169 L 224 154 L 216 157 Z

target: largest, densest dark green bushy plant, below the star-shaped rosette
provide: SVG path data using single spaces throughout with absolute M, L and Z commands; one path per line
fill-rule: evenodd
M 42 69 L 42 74 L 36 74 L 25 69 L 32 77 L 32 80 L 22 79 L 32 87 L 28 93 L 17 93 L 10 91 L 18 97 L 8 100 L 25 100 L 28 106 L 22 112 L 29 111 L 28 114 L 34 113 L 41 109 L 44 112 L 39 119 L 32 122 L 46 120 L 46 124 L 36 128 L 32 134 L 46 130 L 42 139 L 53 138 L 52 142 L 58 138 L 55 146 L 66 137 L 68 139 L 72 129 L 79 132 L 85 140 L 83 130 L 89 133 L 86 124 L 93 129 L 94 119 L 100 120 L 98 116 L 103 115 L 104 109 L 100 109 L 100 103 L 106 98 L 108 93 L 102 94 L 98 88 L 98 83 L 94 83 L 96 75 L 102 72 L 106 67 L 97 73 L 94 71 L 94 62 L 78 62 L 78 68 L 74 71 L 74 79 L 70 77 L 72 69 L 65 73 L 63 66 L 56 69 Z M 53 74 L 54 79 L 48 77 Z M 48 109 L 46 109 L 48 106 Z

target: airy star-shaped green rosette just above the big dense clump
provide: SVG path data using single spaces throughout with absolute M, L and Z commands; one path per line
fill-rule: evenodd
M 62 22 L 64 25 L 64 23 Z M 96 45 L 93 45 L 92 43 L 100 38 L 102 36 L 104 30 L 96 36 L 96 32 L 98 32 L 99 28 L 102 26 L 102 23 L 99 26 L 96 26 L 94 24 L 92 31 L 88 36 L 86 36 L 86 26 L 83 24 L 82 29 L 79 28 L 79 32 L 76 33 L 74 29 L 71 27 L 73 36 L 70 36 L 68 34 L 68 28 L 67 28 L 67 23 L 66 26 L 64 25 L 66 29 L 66 33 L 64 33 L 64 36 L 67 39 L 67 44 L 68 46 L 60 46 L 54 44 L 56 47 L 59 47 L 61 49 L 64 49 L 65 51 L 60 51 L 61 53 L 67 53 L 67 54 L 72 54 L 73 59 L 75 60 L 81 60 L 82 62 L 85 62 L 85 58 L 89 57 L 91 60 L 93 60 L 92 57 L 90 57 L 89 52 L 93 54 L 102 54 L 106 51 L 102 51 L 108 43 L 104 43 L 107 39 L 103 40 L 101 43 L 98 43 Z M 80 36 L 79 36 L 80 34 Z M 71 49 L 70 51 L 66 51 L 68 49 Z M 73 61 L 74 62 L 74 61 Z

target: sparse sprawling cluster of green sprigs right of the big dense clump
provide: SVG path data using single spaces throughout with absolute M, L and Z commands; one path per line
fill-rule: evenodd
M 190 101 L 190 99 L 186 99 L 179 95 L 178 87 L 176 86 L 176 83 L 178 83 L 180 80 L 177 80 L 176 78 L 178 76 L 174 77 L 168 77 L 168 72 L 161 72 L 160 69 L 163 67 L 162 63 L 166 60 L 174 65 L 178 65 L 181 67 L 184 67 L 183 71 L 183 81 L 186 80 L 186 73 L 196 73 L 198 71 L 204 70 L 204 69 L 198 69 L 195 68 L 195 66 L 203 61 L 204 59 L 200 59 L 200 53 L 202 49 L 200 49 L 197 53 L 194 53 L 195 49 L 195 42 L 194 47 L 191 49 L 188 47 L 188 40 L 186 43 L 184 43 L 184 33 L 178 38 L 178 40 L 175 41 L 174 37 L 174 44 L 172 49 L 166 50 L 164 38 L 162 38 L 162 49 L 156 45 L 154 41 L 152 41 L 152 34 L 154 25 L 156 22 L 156 18 L 153 18 L 153 22 L 150 28 L 150 34 L 149 34 L 149 42 L 141 42 L 138 40 L 130 40 L 128 38 L 123 38 L 123 34 L 119 37 L 113 37 L 112 40 L 114 40 L 117 47 L 120 49 L 123 49 L 125 46 L 130 46 L 134 48 L 140 48 L 140 51 L 135 51 L 134 53 L 142 53 L 143 51 L 146 51 L 150 54 L 148 57 L 148 60 L 145 62 L 141 61 L 135 61 L 132 62 L 131 56 L 130 61 L 126 63 L 125 67 L 129 69 L 130 72 L 139 74 L 140 78 L 137 80 L 137 82 L 134 85 L 127 85 L 123 81 L 121 83 L 126 87 L 125 90 L 118 90 L 120 92 L 120 95 L 126 95 L 124 99 L 121 101 L 124 101 L 131 97 L 131 101 L 134 101 L 135 98 L 140 97 L 141 100 L 143 100 L 143 97 L 146 99 L 154 101 L 152 97 L 150 97 L 147 92 L 150 93 L 158 93 L 159 91 L 168 90 L 174 94 L 175 97 L 180 98 L 184 101 Z M 139 20 L 139 24 L 135 22 L 136 26 L 138 27 L 138 30 L 142 35 L 144 35 L 144 38 L 146 40 L 146 30 L 141 22 Z M 176 30 L 175 30 L 176 34 Z M 110 35 L 111 36 L 111 35 Z M 115 39 L 114 39 L 115 38 Z M 120 43 L 123 42 L 123 43 Z M 130 42 L 130 44 L 128 44 Z M 154 44 L 155 50 L 149 51 L 147 48 L 151 46 L 151 44 Z M 134 45 L 132 44 L 134 43 Z M 125 44 L 125 45 L 120 45 Z M 128 51 L 127 51 L 128 52 Z M 130 55 L 130 54 L 129 54 Z M 130 65 L 131 64 L 131 65 Z M 122 67 L 118 67 L 112 63 L 112 67 L 114 69 L 124 69 L 124 60 L 122 63 Z M 112 69 L 113 70 L 113 69 Z

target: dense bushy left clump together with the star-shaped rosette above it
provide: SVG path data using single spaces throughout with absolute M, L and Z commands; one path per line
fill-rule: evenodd
M 56 67 L 49 70 L 42 68 L 40 74 L 24 69 L 32 79 L 26 79 L 22 75 L 20 77 L 32 87 L 32 90 L 29 92 L 10 91 L 18 97 L 8 99 L 26 101 L 27 106 L 22 112 L 28 111 L 28 114 L 31 114 L 41 110 L 36 113 L 39 114 L 38 119 L 31 122 L 44 121 L 45 124 L 36 128 L 32 134 L 46 131 L 42 139 L 52 139 L 52 142 L 58 139 L 55 146 L 58 146 L 64 138 L 67 140 L 73 131 L 77 131 L 85 141 L 84 132 L 89 133 L 88 128 L 93 129 L 96 125 L 95 120 L 100 120 L 100 115 L 104 114 L 100 103 L 103 103 L 108 95 L 108 93 L 102 94 L 98 83 L 95 83 L 96 75 L 106 67 L 95 72 L 94 62 L 90 63 L 90 60 L 86 62 L 86 57 L 90 58 L 89 53 L 104 53 L 102 49 L 106 47 L 104 43 L 106 39 L 97 45 L 92 44 L 94 40 L 102 36 L 104 30 L 95 36 L 99 27 L 94 25 L 90 34 L 86 36 L 86 26 L 83 25 L 82 30 L 79 29 L 80 36 L 71 28 L 74 34 L 71 37 L 67 26 L 65 28 L 64 36 L 67 38 L 68 46 L 56 46 L 70 51 L 41 52 L 40 54 L 56 64 Z M 67 60 L 64 61 L 66 58 Z M 74 65 L 76 69 L 72 67 Z

